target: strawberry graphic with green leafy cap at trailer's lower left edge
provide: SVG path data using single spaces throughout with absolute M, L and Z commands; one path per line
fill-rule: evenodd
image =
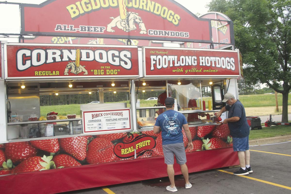
M 12 169 L 12 173 L 20 172 L 32 172 L 39 170 L 47 170 L 56 168 L 54 161 L 51 161 L 53 156 L 33 156 L 18 164 L 15 168 Z

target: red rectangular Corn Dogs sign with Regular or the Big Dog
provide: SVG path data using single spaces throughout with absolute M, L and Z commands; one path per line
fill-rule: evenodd
M 138 77 L 136 46 L 7 44 L 6 78 Z

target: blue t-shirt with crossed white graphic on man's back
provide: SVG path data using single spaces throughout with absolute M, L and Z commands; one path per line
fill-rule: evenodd
M 187 124 L 187 120 L 182 113 L 168 110 L 160 114 L 156 120 L 155 126 L 161 127 L 162 129 L 162 145 L 182 143 L 183 124 Z

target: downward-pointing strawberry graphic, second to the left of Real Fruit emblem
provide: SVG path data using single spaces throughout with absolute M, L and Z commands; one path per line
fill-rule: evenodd
M 78 160 L 86 158 L 87 137 L 68 137 L 59 139 L 60 147 Z

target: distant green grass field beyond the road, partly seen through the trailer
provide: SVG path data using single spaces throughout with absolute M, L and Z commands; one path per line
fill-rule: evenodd
M 208 100 L 212 100 L 211 97 L 203 98 L 205 100 L 206 108 L 208 109 Z M 276 106 L 274 94 L 259 94 L 259 95 L 240 95 L 239 100 L 242 102 L 244 107 L 260 107 L 260 106 Z M 130 107 L 129 101 L 122 101 L 127 103 L 127 107 Z M 109 102 L 107 102 L 109 103 Z M 140 100 L 141 107 L 154 106 L 157 104 L 155 100 Z M 278 94 L 278 104 L 282 106 L 282 95 Z M 289 94 L 288 105 L 291 105 L 291 94 Z M 80 114 L 79 104 L 69 105 L 57 105 L 57 106 L 41 106 L 41 116 L 46 116 L 50 111 L 57 112 L 58 115 L 67 114 Z

